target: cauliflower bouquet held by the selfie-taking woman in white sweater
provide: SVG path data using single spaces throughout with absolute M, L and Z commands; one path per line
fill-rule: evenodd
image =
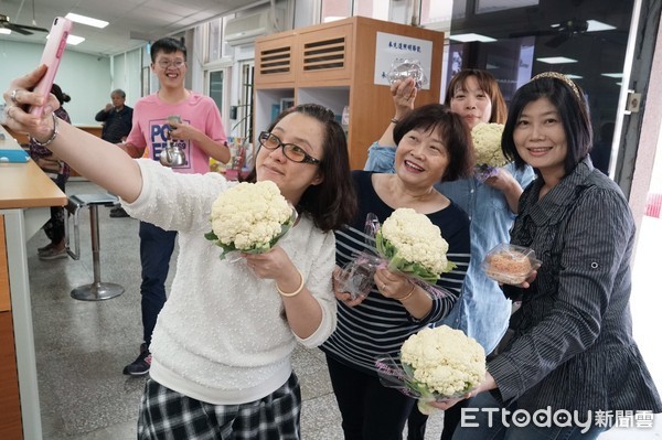
M 261 254 L 276 245 L 297 218 L 297 211 L 271 181 L 242 182 L 223 192 L 212 205 L 212 232 L 204 235 L 229 253 Z

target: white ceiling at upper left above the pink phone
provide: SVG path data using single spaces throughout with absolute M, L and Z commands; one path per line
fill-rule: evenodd
M 109 22 L 105 29 L 74 23 L 72 34 L 85 37 L 67 50 L 98 55 L 113 55 L 140 46 L 148 40 L 193 28 L 210 19 L 223 17 L 269 0 L 0 0 L 0 14 L 12 23 L 50 29 L 55 17 L 68 12 Z M 33 35 L 0 34 L 0 40 L 45 42 L 45 32 Z

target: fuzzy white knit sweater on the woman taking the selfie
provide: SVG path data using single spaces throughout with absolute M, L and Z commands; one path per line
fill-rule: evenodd
M 301 340 L 285 320 L 275 281 L 257 278 L 243 260 L 220 260 L 221 248 L 204 238 L 211 230 L 212 203 L 234 183 L 217 173 L 179 174 L 151 160 L 138 163 L 142 192 L 134 203 L 124 203 L 126 211 L 179 232 L 177 273 L 150 345 L 151 377 L 215 405 L 271 394 L 291 374 L 296 342 L 318 346 L 335 329 L 333 234 L 301 216 L 279 242 L 322 309 L 318 330 Z

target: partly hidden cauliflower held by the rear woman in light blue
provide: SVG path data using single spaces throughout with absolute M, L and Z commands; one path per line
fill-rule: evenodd
M 501 151 L 503 124 L 480 122 L 471 130 L 476 151 L 476 176 L 481 182 L 499 173 L 498 168 L 508 163 Z

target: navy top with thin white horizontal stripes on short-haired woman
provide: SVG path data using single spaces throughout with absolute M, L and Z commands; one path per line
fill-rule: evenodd
M 371 175 L 371 172 L 365 171 L 353 172 L 359 212 L 351 225 L 335 233 L 335 261 L 340 267 L 359 253 L 375 253 L 374 238 L 365 234 L 367 214 L 375 214 L 380 223 L 383 223 L 394 211 L 374 191 Z M 433 309 L 423 320 L 409 315 L 399 301 L 383 297 L 375 286 L 360 305 L 349 308 L 339 301 L 338 328 L 321 346 L 329 356 L 376 375 L 376 357 L 388 354 L 397 358 L 403 342 L 409 335 L 446 316 L 452 309 L 469 266 L 469 218 L 455 203 L 427 216 L 441 229 L 441 236 L 449 246 L 447 257 L 457 265 L 437 282 L 447 294 L 433 296 Z

